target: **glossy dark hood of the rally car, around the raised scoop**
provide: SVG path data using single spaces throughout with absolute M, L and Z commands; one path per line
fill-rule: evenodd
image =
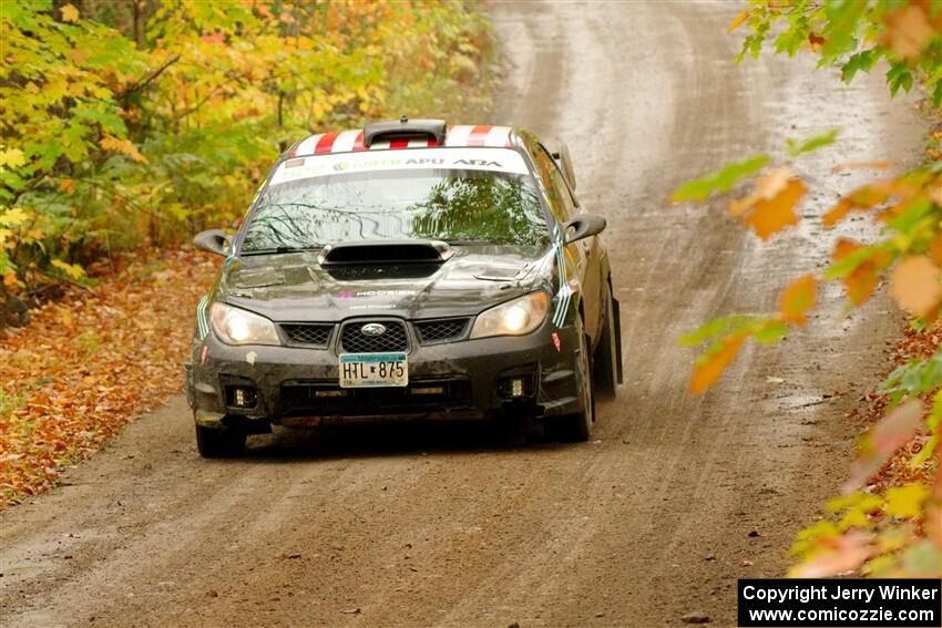
M 317 251 L 234 258 L 216 299 L 275 321 L 351 316 L 439 318 L 480 312 L 535 288 L 546 247 L 459 246 L 434 264 L 321 266 Z

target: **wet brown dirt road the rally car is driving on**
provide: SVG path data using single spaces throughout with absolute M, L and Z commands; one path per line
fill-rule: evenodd
M 846 473 L 858 428 L 843 414 L 900 317 L 878 300 L 841 323 L 829 291 L 807 330 L 749 350 L 704 398 L 685 393 L 693 353 L 674 342 L 774 309 L 829 248 L 815 225 L 859 175 L 819 176 L 811 226 L 766 246 L 719 203 L 664 199 L 829 125 L 841 143 L 808 166 L 905 161 L 922 123 L 880 75 L 844 86 L 811 59 L 734 66 L 726 4 L 492 11 L 512 63 L 499 122 L 566 140 L 583 203 L 610 219 L 627 378 L 597 440 L 512 447 L 396 425 L 207 462 L 175 399 L 0 515 L 0 625 L 645 627 L 698 610 L 728 626 L 737 577 L 782 573 Z

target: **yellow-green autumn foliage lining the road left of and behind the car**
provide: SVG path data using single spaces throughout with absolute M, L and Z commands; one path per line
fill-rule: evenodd
M 130 2 L 0 11 L 0 215 L 33 217 L 29 236 L 0 225 L 17 286 L 78 278 L 52 259 L 88 266 L 236 220 L 281 142 L 487 109 L 489 24 L 464 3 L 144 4 L 143 32 Z

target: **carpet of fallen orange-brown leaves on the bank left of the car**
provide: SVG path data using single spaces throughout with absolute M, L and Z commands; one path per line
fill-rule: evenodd
M 49 490 L 182 390 L 196 302 L 217 267 L 188 251 L 137 260 L 0 331 L 0 506 Z

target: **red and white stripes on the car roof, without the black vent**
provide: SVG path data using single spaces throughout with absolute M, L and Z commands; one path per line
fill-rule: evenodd
M 510 146 L 510 126 L 449 126 L 444 138 L 446 146 L 489 146 L 503 148 Z M 373 142 L 370 151 L 389 148 L 424 148 L 438 146 L 434 140 L 380 140 Z M 318 133 L 303 140 L 291 151 L 291 157 L 322 155 L 326 153 L 355 153 L 366 151 L 362 131 L 342 131 L 339 133 Z

